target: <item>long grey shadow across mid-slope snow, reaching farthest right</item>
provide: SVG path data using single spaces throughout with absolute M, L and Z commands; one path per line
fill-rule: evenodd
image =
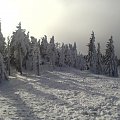
M 70 73 L 70 72 L 68 72 Z M 28 75 L 30 78 L 34 78 L 33 76 Z M 49 88 L 58 89 L 58 90 L 72 90 L 72 91 L 84 91 L 91 95 L 97 95 L 106 97 L 104 93 L 97 92 L 97 89 L 94 89 L 88 85 L 89 83 L 81 80 L 75 80 L 74 77 L 69 77 L 66 75 L 59 75 L 49 72 L 47 74 L 43 74 L 41 76 L 36 76 L 37 82 L 41 83 L 43 86 L 48 86 Z M 85 79 L 85 78 L 83 78 Z M 36 81 L 35 81 L 36 82 Z

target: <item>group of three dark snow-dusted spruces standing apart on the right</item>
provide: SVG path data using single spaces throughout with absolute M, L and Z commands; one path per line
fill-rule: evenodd
M 106 44 L 106 51 L 104 55 L 100 51 L 100 43 L 98 43 L 96 50 L 94 32 L 91 34 L 88 48 L 87 63 L 90 71 L 96 74 L 118 77 L 118 59 L 115 55 L 112 36 Z

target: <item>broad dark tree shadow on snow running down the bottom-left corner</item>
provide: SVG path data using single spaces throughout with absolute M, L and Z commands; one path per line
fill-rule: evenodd
M 13 78 L 12 78 L 13 79 Z M 23 81 L 17 81 L 17 84 L 24 85 L 25 82 Z M 26 103 L 21 99 L 19 94 L 16 94 L 18 91 L 18 86 L 15 86 L 15 84 L 11 84 L 11 80 L 9 82 L 3 83 L 0 85 L 0 95 L 5 98 L 4 103 L 9 106 L 6 111 L 6 117 L 12 117 L 12 119 L 22 119 L 22 120 L 40 120 L 34 113 L 30 106 L 27 106 Z M 7 101 L 6 101 L 7 100 Z M 12 101 L 12 102 L 11 102 Z M 13 108 L 15 108 L 12 115 L 8 115 L 8 111 L 12 111 Z M 14 115 L 16 118 L 14 118 Z

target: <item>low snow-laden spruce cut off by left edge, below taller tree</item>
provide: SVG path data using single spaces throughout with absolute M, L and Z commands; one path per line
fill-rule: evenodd
M 4 66 L 3 56 L 0 53 L 0 82 L 2 82 L 3 80 L 8 80 L 8 77 Z

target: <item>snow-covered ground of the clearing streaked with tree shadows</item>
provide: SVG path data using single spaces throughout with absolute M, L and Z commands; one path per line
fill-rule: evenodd
M 0 120 L 120 120 L 120 78 L 61 69 L 0 84 Z

